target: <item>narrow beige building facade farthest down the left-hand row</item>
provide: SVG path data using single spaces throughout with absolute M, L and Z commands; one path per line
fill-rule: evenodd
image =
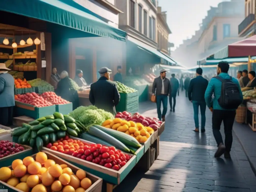
M 171 30 L 166 21 L 166 12 L 162 12 L 162 7 L 157 7 L 157 49 L 169 55 L 168 37 Z

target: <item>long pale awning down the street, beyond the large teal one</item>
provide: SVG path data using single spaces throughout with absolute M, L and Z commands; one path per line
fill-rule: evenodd
M 160 51 L 158 51 L 157 49 L 155 49 L 154 47 L 151 47 L 150 45 L 147 45 L 131 36 L 127 36 L 127 40 L 128 41 L 131 41 L 132 43 L 136 44 L 138 46 L 138 48 L 144 50 L 144 51 L 147 51 L 159 58 L 161 58 L 161 63 L 168 63 L 168 65 L 172 65 L 172 64 L 175 64 L 176 65 L 176 62 L 173 61 L 172 59 L 170 59 L 169 57 L 165 56 L 164 54 L 162 54 Z

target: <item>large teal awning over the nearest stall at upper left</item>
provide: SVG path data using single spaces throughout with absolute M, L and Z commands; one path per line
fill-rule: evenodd
M 44 20 L 96 36 L 126 41 L 126 32 L 59 0 L 8 0 L 1 11 Z

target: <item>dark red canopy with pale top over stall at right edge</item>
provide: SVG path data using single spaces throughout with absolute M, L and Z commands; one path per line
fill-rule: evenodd
M 256 56 L 256 35 L 228 45 L 228 57 Z

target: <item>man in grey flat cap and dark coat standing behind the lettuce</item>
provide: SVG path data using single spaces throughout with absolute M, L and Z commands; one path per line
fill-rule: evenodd
M 120 101 L 120 94 L 116 83 L 110 80 L 112 71 L 107 67 L 102 67 L 99 73 L 99 80 L 91 84 L 89 100 L 92 105 L 115 115 L 115 106 Z

